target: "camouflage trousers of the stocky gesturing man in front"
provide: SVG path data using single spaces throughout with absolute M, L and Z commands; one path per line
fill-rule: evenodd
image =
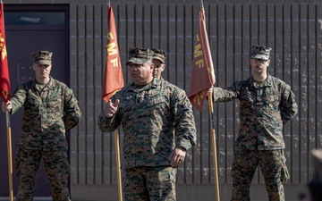
M 123 170 L 125 201 L 175 201 L 176 169 L 169 166 Z

